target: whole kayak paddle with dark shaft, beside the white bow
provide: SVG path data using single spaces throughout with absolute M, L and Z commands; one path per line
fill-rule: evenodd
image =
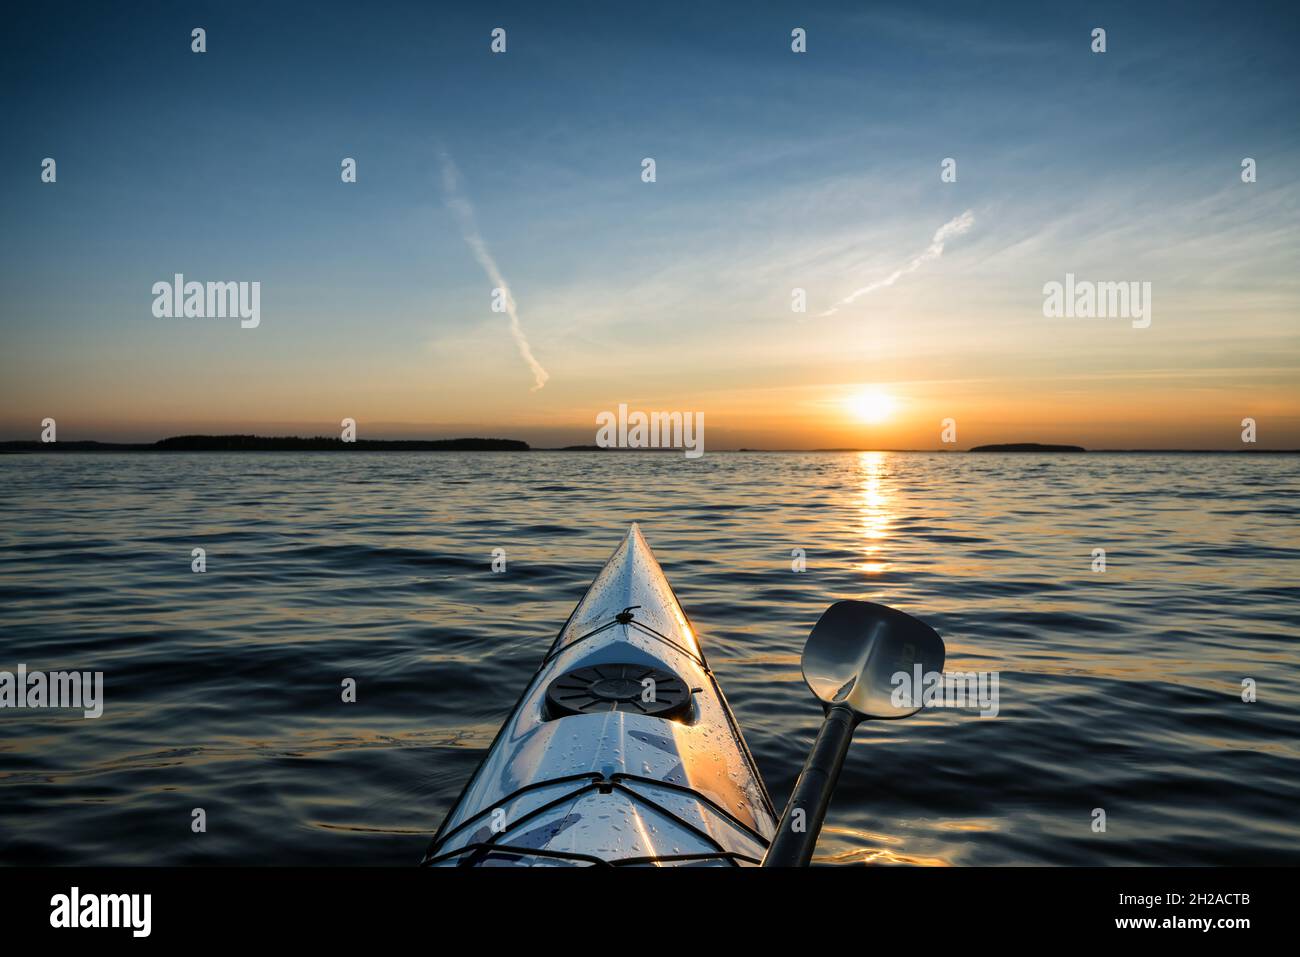
M 826 706 L 826 722 L 785 805 L 764 867 L 806 867 L 826 809 L 853 742 L 867 718 L 906 718 L 920 710 L 914 675 L 944 668 L 944 640 L 924 622 L 872 602 L 836 602 L 812 625 L 803 645 L 803 680 Z M 906 672 L 911 701 L 896 705 L 890 679 Z

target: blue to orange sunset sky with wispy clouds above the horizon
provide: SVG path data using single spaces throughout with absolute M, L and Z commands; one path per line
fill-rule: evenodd
M 1291 4 L 6 17 L 0 438 L 1300 447 Z M 156 317 L 176 273 L 260 324 Z M 1067 273 L 1149 325 L 1045 316 Z

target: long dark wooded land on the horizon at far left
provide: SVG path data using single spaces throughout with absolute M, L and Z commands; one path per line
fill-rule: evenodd
M 526 452 L 517 438 L 359 438 L 329 436 L 173 436 L 157 442 L 0 442 L 0 452 Z

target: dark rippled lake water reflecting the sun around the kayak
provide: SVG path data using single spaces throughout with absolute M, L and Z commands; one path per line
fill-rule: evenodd
M 816 729 L 798 653 L 829 602 L 923 615 L 952 670 L 1000 672 L 997 718 L 859 729 L 820 861 L 1300 862 L 1294 456 L 65 454 L 0 469 L 0 668 L 107 685 L 98 720 L 0 711 L 0 862 L 412 863 L 633 520 L 777 802 Z

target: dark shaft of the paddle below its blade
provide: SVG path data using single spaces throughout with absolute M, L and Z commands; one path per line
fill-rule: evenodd
M 763 858 L 764 867 L 807 867 L 812 859 L 826 809 L 857 727 L 858 716 L 848 705 L 835 705 L 826 713 L 822 731 L 785 805 L 776 837 Z

